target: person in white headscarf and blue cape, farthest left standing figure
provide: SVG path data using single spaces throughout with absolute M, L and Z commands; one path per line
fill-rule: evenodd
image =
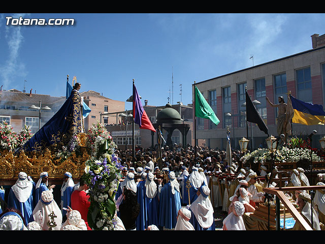
M 18 209 L 27 224 L 33 221 L 33 185 L 27 179 L 27 174 L 25 172 L 20 172 L 18 174 L 16 184 L 10 189 L 8 196 L 8 208 Z

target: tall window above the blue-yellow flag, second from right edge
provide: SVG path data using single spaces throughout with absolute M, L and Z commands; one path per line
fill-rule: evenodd
M 312 103 L 310 67 L 296 71 L 298 99 Z

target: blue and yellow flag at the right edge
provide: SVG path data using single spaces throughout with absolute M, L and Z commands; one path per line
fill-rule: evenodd
M 293 123 L 311 125 L 324 125 L 325 112 L 322 105 L 306 103 L 290 95 L 291 104 L 294 109 Z

